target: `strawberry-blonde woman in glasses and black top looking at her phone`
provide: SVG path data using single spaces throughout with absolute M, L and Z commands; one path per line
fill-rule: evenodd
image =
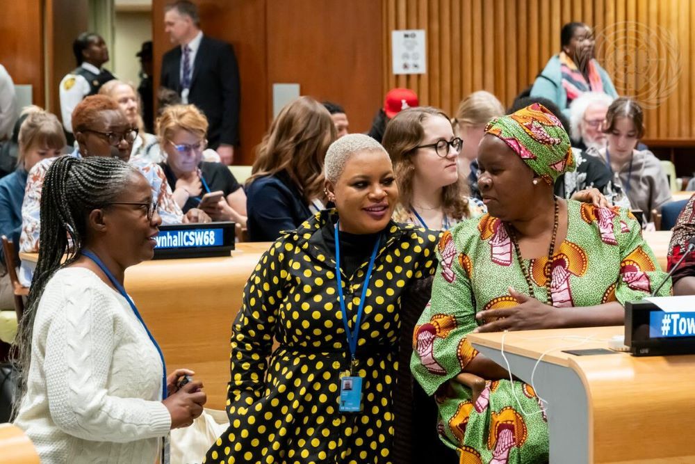
M 167 159 L 161 163 L 174 200 L 183 212 L 201 207 L 213 221 L 246 227 L 246 194 L 229 168 L 202 161 L 208 120 L 194 105 L 167 106 L 157 119 L 157 136 Z M 207 193 L 222 192 L 215 202 Z

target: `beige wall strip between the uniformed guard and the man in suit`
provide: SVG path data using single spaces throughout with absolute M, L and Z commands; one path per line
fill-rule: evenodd
M 115 46 L 106 67 L 122 81 L 131 81 L 137 87 L 140 59 L 135 55 L 142 42 L 152 40 L 152 13 L 117 10 L 115 18 Z

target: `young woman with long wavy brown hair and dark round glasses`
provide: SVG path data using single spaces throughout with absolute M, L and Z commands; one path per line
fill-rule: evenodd
M 484 213 L 482 203 L 468 198 L 466 179 L 459 175 L 463 142 L 443 111 L 431 106 L 401 111 L 386 127 L 383 143 L 400 191 L 395 221 L 445 230 Z

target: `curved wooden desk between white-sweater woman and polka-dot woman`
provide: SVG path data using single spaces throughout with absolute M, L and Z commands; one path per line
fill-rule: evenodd
M 157 259 L 126 270 L 126 291 L 160 344 L 167 370 L 193 369 L 208 408 L 224 409 L 227 401 L 231 323 L 246 280 L 268 247 L 237 243 L 229 257 Z M 19 254 L 30 262 L 37 257 Z

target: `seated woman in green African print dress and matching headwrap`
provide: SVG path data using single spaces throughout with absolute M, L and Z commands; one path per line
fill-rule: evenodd
M 441 439 L 461 462 L 544 462 L 541 401 L 530 385 L 510 383 L 509 372 L 466 335 L 620 325 L 623 303 L 647 296 L 665 274 L 628 211 L 553 196 L 553 182 L 574 161 L 566 132 L 545 107 L 493 120 L 478 161 L 489 214 L 440 239 L 411 369 L 435 395 Z M 660 294 L 670 291 L 667 282 Z M 455 380 L 461 373 L 486 379 L 480 397 Z

